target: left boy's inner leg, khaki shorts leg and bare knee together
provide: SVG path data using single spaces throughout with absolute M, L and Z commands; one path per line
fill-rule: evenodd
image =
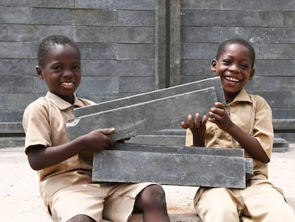
M 165 192 L 157 183 L 114 183 L 108 191 L 103 218 L 127 222 L 132 213 L 143 213 L 144 221 L 166 222 Z M 136 202 L 136 203 L 135 203 Z

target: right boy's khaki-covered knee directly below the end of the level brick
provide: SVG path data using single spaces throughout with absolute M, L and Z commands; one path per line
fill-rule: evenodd
M 203 188 L 201 188 L 203 189 Z M 205 188 L 202 194 L 196 194 L 195 209 L 202 221 L 239 222 L 239 201 L 229 188 Z

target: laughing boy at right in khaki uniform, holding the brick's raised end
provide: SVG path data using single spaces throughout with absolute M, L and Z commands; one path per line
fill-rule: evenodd
M 244 148 L 253 158 L 254 174 L 247 188 L 200 188 L 195 209 L 203 221 L 295 221 L 295 214 L 283 192 L 268 178 L 267 163 L 274 140 L 271 108 L 244 86 L 254 76 L 255 52 L 242 39 L 229 39 L 219 46 L 211 70 L 222 81 L 227 104 L 214 104 L 207 116 L 187 116 L 181 126 L 187 129 L 186 146 Z

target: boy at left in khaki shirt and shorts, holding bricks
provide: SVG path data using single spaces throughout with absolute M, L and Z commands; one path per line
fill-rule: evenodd
M 54 221 L 128 221 L 133 212 L 147 221 L 170 221 L 165 193 L 155 183 L 91 183 L 93 153 L 115 145 L 102 128 L 68 141 L 73 109 L 94 104 L 74 96 L 81 57 L 66 36 L 48 36 L 38 47 L 39 79 L 49 92 L 24 111 L 25 152 L 38 171 L 41 198 Z

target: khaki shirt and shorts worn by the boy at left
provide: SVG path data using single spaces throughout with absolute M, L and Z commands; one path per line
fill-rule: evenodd
M 24 111 L 26 148 L 33 145 L 59 146 L 68 142 L 66 122 L 73 109 L 93 105 L 75 98 L 73 105 L 48 92 Z M 85 214 L 102 221 L 128 221 L 135 197 L 152 183 L 91 183 L 93 153 L 83 152 L 38 171 L 40 195 L 54 221 L 68 221 Z

